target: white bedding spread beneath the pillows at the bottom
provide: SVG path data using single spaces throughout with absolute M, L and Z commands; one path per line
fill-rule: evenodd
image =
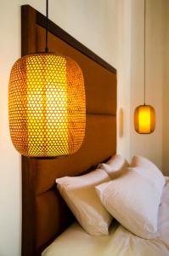
M 144 240 L 114 221 L 109 236 L 90 236 L 74 223 L 42 256 L 169 256 L 169 177 L 161 198 L 158 231 L 158 238 Z

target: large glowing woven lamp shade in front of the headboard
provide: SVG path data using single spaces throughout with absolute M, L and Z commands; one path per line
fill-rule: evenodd
M 20 58 L 10 74 L 8 112 L 11 139 L 20 154 L 55 157 L 75 153 L 86 125 L 81 68 L 62 55 Z

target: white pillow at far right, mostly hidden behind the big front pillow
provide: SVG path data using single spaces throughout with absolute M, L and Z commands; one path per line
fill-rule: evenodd
M 150 182 L 152 182 L 155 186 L 155 189 L 159 189 L 159 193 L 163 190 L 163 187 L 166 183 L 166 179 L 163 176 L 162 172 L 159 170 L 154 163 L 150 160 L 144 158 L 143 156 L 135 155 L 132 157 L 132 167 L 141 167 L 142 171 L 139 172 L 140 175 L 148 178 Z

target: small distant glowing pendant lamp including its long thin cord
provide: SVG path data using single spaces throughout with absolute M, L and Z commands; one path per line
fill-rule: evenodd
M 140 134 L 149 134 L 155 131 L 155 108 L 145 104 L 145 84 L 146 84 L 146 60 L 145 60 L 145 27 L 146 27 L 146 0 L 144 0 L 144 105 L 140 105 L 134 112 L 134 128 Z

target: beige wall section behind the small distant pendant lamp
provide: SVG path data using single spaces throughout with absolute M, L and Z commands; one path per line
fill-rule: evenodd
M 131 150 L 162 166 L 164 1 L 147 1 L 146 18 L 146 103 L 156 111 L 156 128 L 150 135 L 134 131 L 134 109 L 144 104 L 144 1 L 132 0 L 131 33 Z

